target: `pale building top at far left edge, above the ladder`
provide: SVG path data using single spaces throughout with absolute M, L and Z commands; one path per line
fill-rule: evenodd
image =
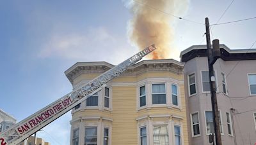
M 16 123 L 16 119 L 0 109 L 0 133 Z

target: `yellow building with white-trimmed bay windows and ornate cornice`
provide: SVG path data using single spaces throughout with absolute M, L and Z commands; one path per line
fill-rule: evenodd
M 65 74 L 74 89 L 114 67 L 77 62 Z M 72 109 L 70 144 L 188 144 L 184 64 L 143 60 Z

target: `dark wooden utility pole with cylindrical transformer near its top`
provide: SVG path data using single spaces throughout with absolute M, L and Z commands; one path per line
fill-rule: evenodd
M 220 58 L 220 44 L 219 40 L 216 39 L 212 41 L 213 51 L 211 48 L 211 38 L 209 31 L 209 20 L 205 18 L 205 36 L 208 52 L 208 67 L 209 67 L 209 81 L 211 87 L 211 103 L 212 103 L 212 117 L 213 117 L 213 126 L 215 132 L 215 142 L 216 145 L 221 145 L 221 134 L 220 134 L 220 116 L 218 111 L 218 103 L 216 97 L 216 78 L 214 76 L 213 64 L 218 58 Z

